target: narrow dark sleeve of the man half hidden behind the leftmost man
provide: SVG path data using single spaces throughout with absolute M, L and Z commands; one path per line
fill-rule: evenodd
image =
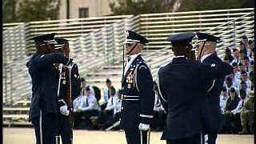
M 78 71 L 78 65 L 75 63 L 71 70 L 71 87 L 72 101 L 74 101 L 75 98 L 78 98 L 81 92 L 81 79 Z

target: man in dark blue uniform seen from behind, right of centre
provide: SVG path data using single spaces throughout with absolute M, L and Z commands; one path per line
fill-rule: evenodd
M 204 83 L 232 72 L 232 67 L 224 62 L 189 61 L 194 36 L 195 33 L 182 33 L 167 38 L 174 58 L 158 71 L 158 92 L 167 112 L 162 139 L 167 144 L 202 143 L 203 120 L 210 117 L 210 110 L 206 107 L 202 111 L 201 106 L 206 101 Z

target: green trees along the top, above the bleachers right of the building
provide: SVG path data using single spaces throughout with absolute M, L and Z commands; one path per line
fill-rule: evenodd
M 254 0 L 118 0 L 110 2 L 110 10 L 114 15 L 234 9 L 253 6 Z

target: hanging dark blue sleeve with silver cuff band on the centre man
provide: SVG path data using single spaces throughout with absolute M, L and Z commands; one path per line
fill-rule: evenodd
M 154 114 L 153 78 L 145 64 L 138 66 L 137 74 L 137 86 L 141 99 L 141 123 L 150 124 Z

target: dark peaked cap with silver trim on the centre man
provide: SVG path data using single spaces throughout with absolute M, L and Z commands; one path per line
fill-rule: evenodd
M 132 30 L 126 30 L 126 42 L 125 43 L 141 43 L 145 45 L 149 41 L 144 38 L 141 34 L 135 33 Z

